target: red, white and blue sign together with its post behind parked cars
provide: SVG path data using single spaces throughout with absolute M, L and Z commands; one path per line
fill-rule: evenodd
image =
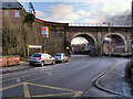
M 42 37 L 44 37 L 44 53 L 47 53 L 47 38 L 49 37 L 49 28 L 42 26 Z

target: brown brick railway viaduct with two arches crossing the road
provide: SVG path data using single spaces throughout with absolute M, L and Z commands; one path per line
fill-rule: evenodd
M 111 37 L 111 52 L 131 53 L 132 28 L 131 26 L 69 26 L 65 33 L 66 46 L 71 47 L 74 37 L 82 36 L 88 40 L 90 51 L 95 55 L 102 55 L 104 45 L 109 44 L 105 37 Z

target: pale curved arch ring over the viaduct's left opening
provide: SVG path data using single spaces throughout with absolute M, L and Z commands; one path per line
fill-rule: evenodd
M 95 47 L 98 46 L 98 44 L 96 44 L 96 38 L 92 35 L 92 34 L 90 34 L 90 33 L 83 33 L 83 32 L 79 32 L 79 33 L 76 33 L 76 34 L 74 34 L 71 38 L 70 38 L 70 42 L 74 38 L 74 37 L 76 37 L 76 36 L 82 36 L 82 35 L 86 35 L 86 36 L 89 36 L 89 37 L 91 37 L 92 40 L 93 40 L 93 42 L 94 42 L 94 45 L 95 45 Z M 88 38 L 86 38 L 86 41 L 88 41 Z

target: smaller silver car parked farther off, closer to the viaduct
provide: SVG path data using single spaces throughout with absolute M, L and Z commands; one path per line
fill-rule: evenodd
M 63 53 L 57 53 L 54 55 L 54 58 L 55 58 L 55 62 L 68 62 L 69 61 L 69 57 L 66 55 L 64 55 Z

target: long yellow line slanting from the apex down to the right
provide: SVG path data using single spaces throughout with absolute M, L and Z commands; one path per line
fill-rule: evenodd
M 52 86 L 44 86 L 44 85 L 38 85 L 38 84 L 31 84 L 31 82 L 27 82 L 28 85 L 32 85 L 32 86 L 39 86 L 39 87 L 44 87 L 44 88 L 51 88 L 51 89 L 57 89 L 57 90 L 64 90 L 64 91 L 76 91 L 76 90 L 71 90 L 71 89 L 64 89 L 64 88 L 59 88 L 59 87 L 52 87 Z

